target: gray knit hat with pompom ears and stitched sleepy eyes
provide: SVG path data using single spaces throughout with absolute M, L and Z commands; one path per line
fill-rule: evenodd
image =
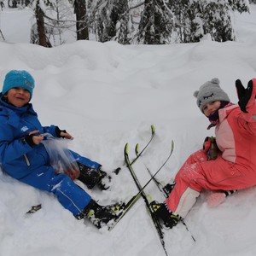
M 209 102 L 230 102 L 229 96 L 219 86 L 217 78 L 202 84 L 199 90 L 195 90 L 196 104 L 203 113 L 203 107 Z

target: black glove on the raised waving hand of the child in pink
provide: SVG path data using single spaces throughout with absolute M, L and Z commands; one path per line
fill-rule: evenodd
M 239 79 L 236 80 L 236 92 L 239 99 L 238 105 L 241 111 L 247 113 L 247 103 L 250 100 L 253 92 L 253 81 L 250 80 L 247 85 L 247 89 L 243 87 Z

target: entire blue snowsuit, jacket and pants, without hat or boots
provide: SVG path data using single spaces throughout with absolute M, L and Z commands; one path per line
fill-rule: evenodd
M 55 174 L 43 143 L 31 147 L 25 140 L 27 134 L 36 130 L 39 134 L 50 133 L 56 137 L 55 127 L 42 126 L 32 104 L 15 108 L 3 102 L 0 94 L 0 165 L 3 170 L 21 182 L 55 194 L 61 205 L 77 216 L 89 203 L 90 195 L 67 175 Z M 70 152 L 76 161 L 85 166 L 99 168 L 98 163 Z

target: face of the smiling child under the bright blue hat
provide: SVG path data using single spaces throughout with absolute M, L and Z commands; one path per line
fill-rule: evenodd
M 15 87 L 10 89 L 4 97 L 16 108 L 21 108 L 29 102 L 30 92 L 22 87 Z

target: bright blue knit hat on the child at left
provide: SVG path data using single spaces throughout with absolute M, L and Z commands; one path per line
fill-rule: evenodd
M 2 94 L 4 95 L 10 89 L 15 87 L 22 87 L 28 90 L 30 92 L 30 99 L 32 99 L 35 80 L 32 78 L 32 75 L 25 70 L 11 70 L 6 74 L 3 81 Z

